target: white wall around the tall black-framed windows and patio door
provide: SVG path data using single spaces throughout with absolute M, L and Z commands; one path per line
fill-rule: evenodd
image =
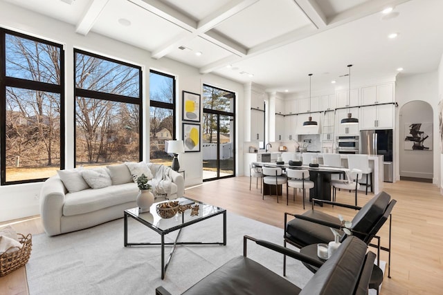
M 143 146 L 149 145 L 149 70 L 155 69 L 177 77 L 177 137 L 181 138 L 181 93 L 183 90 L 192 93 L 202 93 L 204 83 L 224 88 L 236 93 L 236 155 L 237 163 L 243 163 L 243 128 L 242 114 L 244 108 L 244 86 L 229 79 L 217 75 L 201 75 L 197 68 L 181 64 L 171 59 L 151 59 L 150 52 L 134 46 L 129 46 L 119 41 L 109 39 L 102 35 L 89 33 L 82 36 L 75 33 L 74 26 L 50 19 L 35 12 L 12 6 L 9 3 L 1 3 L 0 26 L 24 32 L 42 39 L 49 39 L 59 44 L 64 44 L 66 61 L 66 169 L 72 168 L 73 158 L 73 48 L 80 48 L 99 55 L 105 55 L 115 59 L 127 61 L 143 68 L 143 102 L 146 106 L 144 112 Z M 149 160 L 149 150 L 143 151 L 143 160 Z M 180 164 L 186 169 L 186 185 L 199 184 L 202 182 L 202 159 L 201 153 L 186 153 L 180 155 Z M 243 175 L 243 164 L 237 164 L 237 175 Z M 0 221 L 22 218 L 39 214 L 39 190 L 41 183 L 17 184 L 0 187 Z

